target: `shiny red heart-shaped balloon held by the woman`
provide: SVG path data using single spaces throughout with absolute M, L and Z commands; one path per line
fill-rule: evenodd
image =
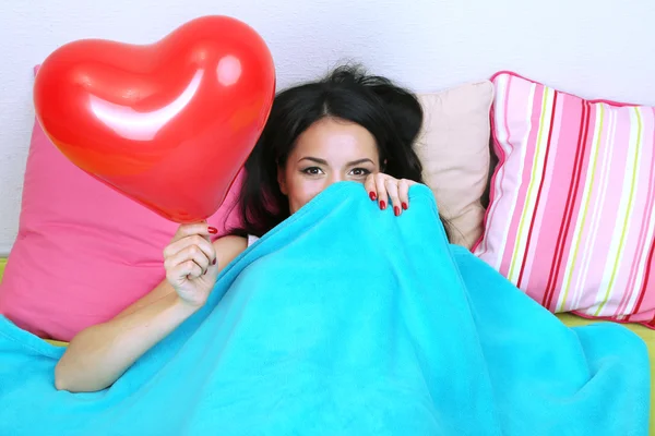
M 264 40 L 227 16 L 151 45 L 73 41 L 41 64 L 36 116 L 78 167 L 159 215 L 213 215 L 269 118 L 275 69 Z

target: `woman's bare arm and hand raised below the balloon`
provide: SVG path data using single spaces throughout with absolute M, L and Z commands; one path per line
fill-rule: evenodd
M 57 389 L 88 392 L 111 386 L 202 307 L 218 271 L 247 246 L 240 237 L 221 238 L 212 244 L 207 235 L 206 225 L 180 227 L 165 251 L 167 279 L 114 319 L 78 334 L 55 370 Z

